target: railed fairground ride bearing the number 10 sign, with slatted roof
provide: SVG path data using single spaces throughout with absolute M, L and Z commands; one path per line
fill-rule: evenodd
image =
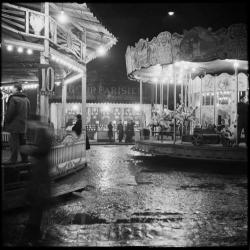
M 117 39 L 100 23 L 85 3 L 3 3 L 1 8 L 1 125 L 6 103 L 15 83 L 22 83 L 31 103 L 31 113 L 52 121 L 51 103 L 55 85 L 61 87 L 61 122 L 54 128 L 50 152 L 52 180 L 68 176 L 83 168 L 86 160 L 86 64 Z M 82 135 L 65 130 L 67 86 L 81 79 Z M 52 113 L 53 114 L 53 113 Z M 9 134 L 2 135 L 3 207 L 24 204 L 25 186 L 32 171 L 31 163 L 5 165 Z M 29 135 L 28 135 L 29 137 Z M 32 138 L 29 138 L 32 139 Z M 72 184 L 66 193 L 76 189 Z

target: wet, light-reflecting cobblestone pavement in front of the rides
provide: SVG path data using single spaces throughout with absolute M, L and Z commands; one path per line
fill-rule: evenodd
M 92 146 L 70 180 L 82 192 L 53 202 L 43 218 L 49 246 L 246 246 L 246 167 L 152 157 L 132 146 Z M 4 216 L 15 244 L 21 211 Z M 11 240 L 10 240 L 11 239 Z

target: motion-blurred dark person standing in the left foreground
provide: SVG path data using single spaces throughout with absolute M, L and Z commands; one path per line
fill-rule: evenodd
M 49 153 L 52 147 L 52 137 L 48 122 L 42 121 L 38 115 L 33 115 L 28 122 L 34 138 L 31 145 L 21 147 L 22 153 L 31 156 L 31 178 L 28 185 L 27 201 L 29 204 L 29 219 L 21 244 L 37 245 L 41 237 L 41 221 L 43 212 L 51 196 Z

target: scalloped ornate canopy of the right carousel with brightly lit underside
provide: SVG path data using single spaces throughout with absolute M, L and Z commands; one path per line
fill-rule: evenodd
M 128 77 L 154 83 L 173 81 L 173 72 L 180 79 L 186 74 L 220 74 L 248 71 L 247 31 L 244 24 L 213 32 L 194 27 L 183 35 L 168 31 L 151 41 L 140 39 L 126 51 Z M 178 83 L 178 81 L 177 81 Z

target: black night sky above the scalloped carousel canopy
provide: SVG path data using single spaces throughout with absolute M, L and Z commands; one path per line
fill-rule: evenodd
M 195 26 L 211 27 L 213 31 L 228 28 L 234 23 L 247 23 L 247 3 L 234 2 L 177 2 L 177 3 L 87 3 L 87 6 L 118 42 L 103 58 L 87 66 L 106 79 L 127 80 L 125 53 L 140 38 L 149 41 L 160 32 L 183 33 Z M 168 16 L 168 11 L 175 11 Z

